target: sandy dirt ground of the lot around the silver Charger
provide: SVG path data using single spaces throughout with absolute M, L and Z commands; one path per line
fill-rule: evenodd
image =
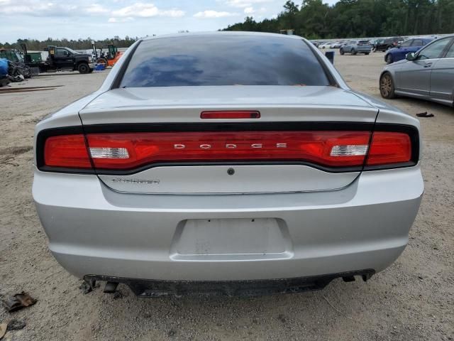
M 336 54 L 355 90 L 380 97 L 383 54 Z M 454 109 L 416 99 L 392 104 L 421 118 L 426 191 L 409 246 L 389 269 L 363 283 L 336 280 L 323 291 L 259 298 L 138 299 L 101 288 L 87 295 L 60 267 L 31 197 L 33 127 L 101 84 L 106 72 L 35 77 L 13 87 L 55 90 L 0 93 L 0 296 L 27 291 L 35 305 L 0 307 L 0 323 L 26 328 L 4 340 L 453 340 Z M 365 222 L 367 224 L 367 222 Z

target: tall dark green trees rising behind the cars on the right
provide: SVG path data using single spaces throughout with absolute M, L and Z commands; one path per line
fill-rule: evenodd
M 246 17 L 223 31 L 279 32 L 309 39 L 417 36 L 454 33 L 454 0 L 322 0 L 287 1 L 277 18 Z

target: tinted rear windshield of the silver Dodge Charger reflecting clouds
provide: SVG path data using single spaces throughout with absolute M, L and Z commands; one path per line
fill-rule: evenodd
M 329 85 L 303 40 L 272 36 L 187 36 L 144 40 L 120 87 Z

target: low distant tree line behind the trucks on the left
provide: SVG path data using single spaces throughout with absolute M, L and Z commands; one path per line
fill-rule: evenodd
M 133 45 L 135 40 L 138 40 L 138 37 L 131 38 L 126 36 L 125 38 L 120 38 L 118 36 L 114 38 L 108 38 L 104 40 L 95 40 L 96 48 L 101 48 L 101 46 L 107 44 L 114 44 L 118 48 L 128 48 Z M 68 40 L 68 39 L 53 39 L 48 38 L 46 40 L 37 40 L 37 39 L 18 39 L 16 43 L 1 43 L 0 48 L 16 48 L 21 50 L 21 43 L 25 43 L 28 50 L 37 50 L 42 51 L 49 45 L 53 46 L 62 46 L 65 48 L 72 48 L 73 50 L 88 50 L 92 48 L 92 38 L 78 39 L 78 40 Z

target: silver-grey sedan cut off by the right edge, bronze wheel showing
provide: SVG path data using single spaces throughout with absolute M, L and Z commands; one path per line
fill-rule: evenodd
M 380 75 L 380 94 L 416 97 L 454 104 L 454 36 L 434 40 L 405 60 L 384 67 Z

